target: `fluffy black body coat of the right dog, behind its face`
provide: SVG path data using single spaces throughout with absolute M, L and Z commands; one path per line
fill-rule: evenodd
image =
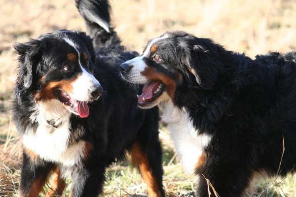
M 196 173 L 205 175 L 221 197 L 237 197 L 255 173 L 294 172 L 296 52 L 252 60 L 209 39 L 186 35 L 186 40 L 195 48 L 187 58 L 199 80 L 186 74 L 175 104 L 188 110 L 199 133 L 213 134 L 204 150 L 206 162 Z M 201 178 L 198 197 L 208 195 L 206 184 Z

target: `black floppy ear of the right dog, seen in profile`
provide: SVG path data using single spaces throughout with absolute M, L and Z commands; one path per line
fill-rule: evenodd
M 191 54 L 191 61 L 187 65 L 189 72 L 202 88 L 212 90 L 222 66 L 217 54 L 200 45 L 192 46 Z

